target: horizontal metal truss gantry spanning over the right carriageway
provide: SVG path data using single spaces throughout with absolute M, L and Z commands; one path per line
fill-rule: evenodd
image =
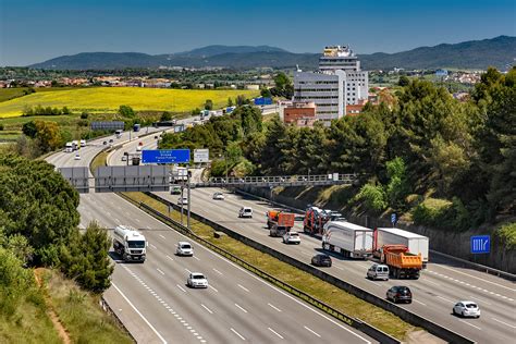
M 316 174 L 316 175 L 275 175 L 275 176 L 245 176 L 245 177 L 210 177 L 206 182 L 192 183 L 195 187 L 224 187 L 224 186 L 302 186 L 302 185 L 337 185 L 352 184 L 357 174 Z

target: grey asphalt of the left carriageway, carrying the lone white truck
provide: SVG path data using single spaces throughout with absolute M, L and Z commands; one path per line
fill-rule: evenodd
M 59 152 L 47 161 L 57 167 L 88 165 L 105 147 L 103 140 L 81 148 L 81 160 L 74 160 L 75 153 Z M 147 140 L 152 142 L 153 135 Z M 194 243 L 194 257 L 176 257 L 176 243 L 187 238 L 114 194 L 83 194 L 78 210 L 81 228 L 93 220 L 109 229 L 128 224 L 149 241 L 145 263 L 123 263 L 112 256 L 112 286 L 105 293 L 139 343 L 373 342 L 204 246 Z M 188 288 L 189 271 L 205 273 L 210 287 Z

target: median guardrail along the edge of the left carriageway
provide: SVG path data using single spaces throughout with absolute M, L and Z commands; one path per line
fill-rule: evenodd
M 218 253 L 219 255 L 225 257 L 226 259 L 237 263 L 238 266 L 243 267 L 244 269 L 248 270 L 249 272 L 253 272 L 257 277 L 266 280 L 267 282 L 269 282 L 273 285 L 277 285 L 277 286 L 281 287 L 285 292 L 287 292 L 287 293 L 290 293 L 290 294 L 307 302 L 308 304 L 319 308 L 320 310 L 322 310 L 325 314 L 332 316 L 333 318 L 335 318 L 337 320 L 341 320 L 341 321 L 345 322 L 346 324 L 359 330 L 360 332 L 369 335 L 370 337 L 379 341 L 380 343 L 389 343 L 389 344 L 390 343 L 392 343 L 392 344 L 401 343 L 395 337 L 393 337 L 393 336 L 386 334 L 385 332 L 370 325 L 369 323 L 364 322 L 360 319 L 357 319 L 357 318 L 349 317 L 349 316 L 345 315 L 344 312 L 331 307 L 330 305 L 328 305 L 328 304 L 310 296 L 309 294 L 296 288 L 295 286 L 292 286 L 292 285 L 290 285 L 290 284 L 287 284 L 287 283 L 285 283 L 285 282 L 283 282 L 279 279 L 277 279 L 275 277 L 262 271 L 261 269 L 253 266 L 251 263 L 245 261 L 244 259 L 242 259 L 242 258 L 226 251 L 225 249 L 220 248 L 219 246 L 206 241 L 205 238 L 202 238 L 202 237 L 196 235 L 195 233 L 193 233 L 192 231 L 189 231 L 186 226 L 184 226 L 181 223 L 179 223 L 179 222 L 174 221 L 173 219 L 169 218 L 167 214 L 153 209 L 152 207 L 149 207 L 145 202 L 136 202 L 133 199 L 131 199 L 131 197 L 128 197 L 124 194 L 118 194 L 118 195 L 120 195 L 122 198 L 137 205 L 139 208 L 142 208 L 145 211 L 149 212 L 155 218 L 158 218 L 162 222 L 171 225 L 174 230 L 179 231 L 180 233 L 192 237 L 193 239 L 199 242 L 200 244 L 208 247 L 209 249 L 211 249 L 211 250 Z M 174 209 L 177 209 L 177 208 L 175 208 L 175 207 L 177 207 L 176 205 L 170 204 L 170 206 L 173 206 Z

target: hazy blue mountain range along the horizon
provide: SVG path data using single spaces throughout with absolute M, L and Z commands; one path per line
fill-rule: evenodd
M 320 53 L 294 53 L 269 46 L 208 46 L 185 52 L 146 54 L 140 52 L 82 52 L 29 65 L 51 70 L 113 70 L 124 67 L 299 67 L 315 70 Z M 499 36 L 419 47 L 396 53 L 358 54 L 364 70 L 478 69 L 490 65 L 506 70 L 516 60 L 516 37 Z

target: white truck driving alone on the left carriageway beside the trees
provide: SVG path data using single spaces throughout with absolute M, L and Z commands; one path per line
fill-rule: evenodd
M 145 236 L 128 225 L 118 225 L 113 233 L 113 248 L 124 261 L 140 261 L 146 258 Z

